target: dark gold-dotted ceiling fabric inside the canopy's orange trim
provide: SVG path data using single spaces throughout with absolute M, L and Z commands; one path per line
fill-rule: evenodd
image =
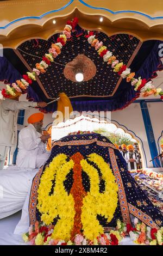
M 109 38 L 102 32 L 95 33 L 98 34 L 98 40 L 103 41 L 103 44 L 113 54 L 116 54 L 117 59 L 126 64 L 131 59 L 132 54 L 140 42 L 139 39 L 134 36 L 130 37 L 127 34 L 119 34 Z M 112 71 L 110 65 L 103 62 L 103 58 L 99 57 L 95 48 L 91 47 L 87 42 L 87 38 L 85 38 L 86 34 L 87 31 L 79 30 L 79 28 L 78 31 L 72 33 L 72 38 L 62 47 L 61 54 L 46 69 L 46 73 L 39 76 L 41 84 L 49 97 L 55 98 L 60 92 L 66 93 L 68 97 L 81 95 L 100 97 L 109 96 L 114 92 L 120 76 Z M 42 57 L 45 53 L 48 53 L 51 44 L 56 42 L 58 36 L 59 34 L 55 34 L 47 41 L 40 39 L 37 41 L 29 40 L 23 42 L 18 47 L 18 49 L 23 51 L 20 51 L 20 54 L 30 68 L 35 67 L 35 64 L 41 60 L 34 56 Z M 29 54 L 34 56 L 30 56 Z M 78 54 L 85 54 L 85 56 L 95 63 L 97 68 L 96 76 L 87 82 L 72 82 L 67 80 L 63 74 L 66 63 L 71 62 Z

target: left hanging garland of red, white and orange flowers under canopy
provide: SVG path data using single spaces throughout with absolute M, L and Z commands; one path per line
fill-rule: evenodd
M 40 63 L 35 64 L 33 72 L 27 72 L 26 75 L 23 75 L 21 80 L 16 80 L 15 83 L 12 83 L 12 86 L 7 85 L 6 89 L 0 91 L 0 99 L 9 98 L 10 96 L 16 96 L 17 93 L 22 93 L 26 91 L 29 84 L 32 84 L 33 81 L 36 81 L 36 75 L 39 76 L 40 73 L 44 74 L 46 69 L 52 62 L 61 53 L 61 48 L 66 44 L 67 39 L 71 38 L 71 32 L 78 24 L 78 18 L 75 17 L 72 21 L 67 21 L 67 24 L 57 39 L 57 43 L 52 44 L 49 48 L 48 53 L 45 53 L 45 56 L 42 57 Z

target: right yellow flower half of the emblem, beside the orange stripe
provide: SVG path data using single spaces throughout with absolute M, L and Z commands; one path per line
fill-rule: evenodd
M 99 193 L 99 175 L 97 170 L 86 160 L 80 161 L 84 172 L 90 178 L 90 191 L 83 199 L 82 225 L 83 234 L 87 239 L 93 240 L 104 233 L 102 225 L 97 220 L 97 215 L 105 216 L 108 222 L 112 220 L 118 203 L 118 186 L 115 177 L 108 164 L 103 158 L 95 153 L 90 154 L 87 159 L 96 164 L 101 170 L 102 179 L 105 181 L 105 191 Z

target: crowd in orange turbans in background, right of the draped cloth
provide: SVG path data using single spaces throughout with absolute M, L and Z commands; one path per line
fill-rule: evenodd
M 138 143 L 134 143 L 133 145 L 122 144 L 120 146 L 115 144 L 115 146 L 120 150 L 120 153 L 126 160 L 128 170 L 142 168 L 142 160 Z

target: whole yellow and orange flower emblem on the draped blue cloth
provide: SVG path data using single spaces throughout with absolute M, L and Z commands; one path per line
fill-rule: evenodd
M 46 225 L 52 224 L 54 218 L 59 220 L 53 230 L 53 239 L 74 240 L 76 234 L 83 234 L 93 240 L 104 233 L 97 215 L 105 216 L 108 222 L 112 220 L 117 207 L 118 187 L 115 177 L 108 164 L 101 156 L 91 154 L 88 159 L 101 169 L 105 181 L 105 191 L 99 193 L 99 175 L 97 170 L 84 160 L 80 153 L 74 154 L 70 161 L 67 156 L 59 154 L 45 168 L 37 191 L 37 209 L 41 213 L 41 221 Z M 73 168 L 73 185 L 68 195 L 64 181 Z M 85 192 L 82 184 L 82 169 L 89 175 L 90 192 Z M 53 180 L 55 186 L 51 193 Z

